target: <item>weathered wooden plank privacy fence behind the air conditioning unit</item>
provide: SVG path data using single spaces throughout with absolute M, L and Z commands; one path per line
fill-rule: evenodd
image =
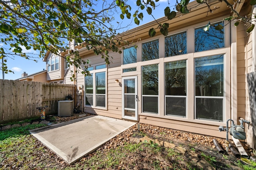
M 40 117 L 36 107 L 48 106 L 46 115 L 58 112 L 58 101 L 74 98 L 74 84 L 0 80 L 0 123 Z

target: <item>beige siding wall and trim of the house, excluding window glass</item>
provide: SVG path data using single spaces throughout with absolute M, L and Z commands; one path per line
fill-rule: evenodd
M 193 2 L 194 3 L 194 2 Z M 196 3 L 196 2 L 195 2 Z M 218 2 L 221 3 L 221 2 Z M 216 5 L 218 6 L 218 5 Z M 220 5 L 220 6 L 225 6 Z M 224 7 L 223 7 L 224 8 Z M 245 7 L 245 9 L 247 9 Z M 245 10 L 246 11 L 246 10 Z M 207 12 L 207 9 L 206 9 Z M 95 113 L 98 115 L 104 115 L 108 117 L 114 117 L 118 119 L 122 119 L 122 86 L 124 82 L 122 82 L 122 78 L 126 78 L 129 76 L 135 76 L 138 78 L 138 122 L 147 123 L 151 125 L 157 125 L 161 127 L 168 127 L 172 129 L 178 129 L 181 131 L 189 131 L 192 133 L 200 133 L 203 135 L 211 135 L 216 137 L 226 138 L 226 133 L 219 132 L 218 126 L 222 125 L 226 127 L 226 121 L 230 118 L 234 119 L 236 124 L 238 123 L 238 118 L 248 117 L 250 114 L 249 100 L 248 100 L 248 89 L 246 84 L 246 74 L 247 72 L 254 71 L 254 58 L 252 56 L 253 53 L 253 41 L 255 38 L 252 38 L 251 34 L 246 34 L 246 27 L 243 24 L 238 25 L 236 28 L 231 28 L 227 22 L 224 23 L 225 26 L 225 47 L 220 49 L 214 49 L 211 51 L 201 51 L 194 52 L 194 44 L 191 43 L 192 39 L 194 39 L 194 29 L 198 27 L 203 27 L 208 24 L 208 21 L 211 23 L 222 21 L 223 18 L 230 15 L 230 10 L 227 8 L 226 10 L 222 10 L 221 12 L 214 12 L 213 14 L 209 14 L 206 17 L 206 12 L 202 10 L 191 12 L 190 14 L 186 14 L 182 17 L 176 17 L 171 21 L 168 21 L 171 24 L 169 35 L 174 35 L 176 33 L 181 33 L 186 31 L 187 33 L 187 53 L 173 56 L 173 57 L 165 57 L 165 37 L 163 35 L 157 34 L 153 38 L 148 37 L 148 33 L 145 30 L 149 30 L 151 27 L 154 27 L 154 23 L 149 23 L 141 26 L 136 29 L 136 31 L 130 33 L 127 36 L 128 41 L 132 41 L 135 39 L 140 39 L 135 44 L 138 45 L 137 50 L 137 62 L 132 64 L 122 64 L 123 63 L 123 53 L 113 53 L 109 52 L 109 55 L 113 58 L 110 59 L 111 63 L 106 68 L 106 107 L 91 107 L 85 105 L 85 92 L 84 96 L 79 98 L 78 101 L 83 100 L 83 109 L 89 113 Z M 246 11 L 248 14 L 249 12 Z M 198 20 L 200 18 L 200 20 Z M 164 19 L 162 19 L 164 20 Z M 230 31 L 231 30 L 231 31 Z M 232 40 L 234 43 L 234 47 L 231 47 L 230 35 L 236 35 L 236 39 Z M 134 35 L 134 36 L 133 36 Z M 136 36 L 135 36 L 136 35 Z M 125 36 L 124 36 L 125 37 Z M 133 38 L 132 38 L 133 37 Z M 147 43 L 149 41 L 158 40 L 159 41 L 159 58 L 149 61 L 142 61 L 142 44 Z M 130 45 L 131 47 L 132 45 Z M 125 48 L 127 48 L 126 46 Z M 76 48 L 76 47 L 74 47 Z M 104 59 L 101 56 L 95 56 L 92 53 L 83 50 L 82 47 L 78 47 L 77 50 L 80 50 L 80 56 L 84 60 L 90 61 L 90 66 L 94 67 L 104 64 Z M 232 59 L 232 54 L 236 56 L 235 60 Z M 196 119 L 195 115 L 195 60 L 197 58 L 209 56 L 209 55 L 224 55 L 224 102 L 223 102 L 223 112 L 224 117 L 223 121 L 212 121 L 207 119 Z M 187 77 L 187 94 L 186 94 L 186 116 L 185 117 L 177 117 L 170 116 L 165 114 L 165 64 L 172 61 L 180 61 L 186 60 L 186 77 Z M 234 63 L 231 63 L 234 62 Z M 143 112 L 142 106 L 142 67 L 158 64 L 158 114 L 146 113 Z M 232 67 L 234 66 L 234 67 Z M 123 72 L 123 69 L 126 68 L 136 68 L 136 71 L 131 72 Z M 75 70 L 73 67 L 70 67 L 71 70 Z M 80 71 L 80 70 L 78 70 Z M 234 75 L 233 72 L 234 71 Z M 67 84 L 74 83 L 69 81 L 69 77 L 71 76 L 68 73 L 65 77 L 65 82 Z M 86 86 L 85 77 L 81 73 L 78 72 L 76 74 L 76 82 L 75 84 L 78 87 Z M 118 80 L 119 82 L 116 82 Z M 234 82 L 230 84 L 230 82 Z M 234 86 L 234 87 L 233 87 Z M 233 90 L 235 88 L 235 90 Z M 85 88 L 84 88 L 85 90 Z M 235 103 L 235 104 L 232 104 Z M 235 110 L 235 111 L 233 111 Z M 235 113 L 234 113 L 235 112 Z

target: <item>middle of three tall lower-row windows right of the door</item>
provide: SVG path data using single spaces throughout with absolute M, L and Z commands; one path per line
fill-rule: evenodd
M 166 115 L 186 117 L 186 60 L 165 63 Z

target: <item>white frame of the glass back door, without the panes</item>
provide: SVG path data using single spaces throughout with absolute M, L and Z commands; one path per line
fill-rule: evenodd
M 124 111 L 124 80 L 126 79 L 134 79 L 135 80 L 135 109 L 130 109 L 135 111 L 135 117 L 127 116 L 125 115 Z M 122 118 L 123 119 L 129 119 L 133 121 L 138 121 L 138 76 L 128 76 L 128 77 L 122 77 Z

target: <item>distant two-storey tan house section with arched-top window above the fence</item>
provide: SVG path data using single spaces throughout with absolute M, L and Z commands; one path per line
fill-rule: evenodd
M 50 51 L 44 55 L 43 61 L 46 62 L 46 81 L 52 83 L 65 83 L 64 76 L 68 71 L 68 63 L 65 61 L 64 55 L 67 52 L 59 51 L 59 55 Z

